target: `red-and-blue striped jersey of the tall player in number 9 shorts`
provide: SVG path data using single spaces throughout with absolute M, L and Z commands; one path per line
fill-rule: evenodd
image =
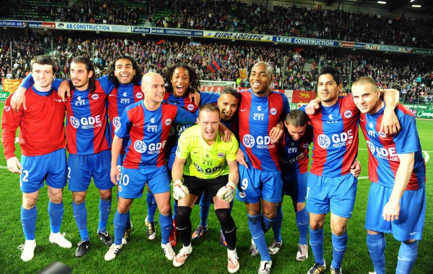
M 254 168 L 280 171 L 278 144 L 269 132 L 290 111 L 287 97 L 279 92 L 258 97 L 251 89 L 239 92 L 239 147 Z

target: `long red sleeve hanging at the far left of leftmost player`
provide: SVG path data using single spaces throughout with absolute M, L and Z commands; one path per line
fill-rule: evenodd
M 6 160 L 15 156 L 16 129 L 19 127 L 23 115 L 22 106 L 19 108 L 19 112 L 14 112 L 10 107 L 11 97 L 12 94 L 7 97 L 3 108 L 3 116 L 1 117 L 1 142 Z

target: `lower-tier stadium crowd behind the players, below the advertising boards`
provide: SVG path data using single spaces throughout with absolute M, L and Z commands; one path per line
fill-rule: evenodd
M 32 34 L 22 39 L 3 35 L 0 40 L 0 77 L 23 78 L 29 70 L 30 59 L 39 54 L 53 54 L 58 64 L 59 78 L 69 77 L 73 56 L 92 57 L 96 74 L 107 73 L 108 64 L 116 56 L 127 53 L 140 64 L 143 72 L 161 73 L 175 62 L 192 65 L 202 80 L 236 81 L 237 86 L 249 87 L 247 79 L 239 78 L 239 69 L 250 69 L 259 60 L 275 68 L 275 88 L 316 90 L 318 69 L 326 64 L 335 66 L 343 75 L 345 91 L 361 76 L 371 76 L 382 88 L 396 88 L 407 102 L 432 103 L 433 71 L 431 64 L 419 60 L 402 60 L 402 55 L 344 55 L 326 49 L 291 48 L 287 46 L 252 46 L 189 42 L 188 40 L 132 40 L 130 38 L 72 38 L 56 37 L 51 53 L 47 36 Z M 12 69 L 10 41 L 12 39 Z M 284 59 L 286 61 L 284 61 Z M 213 72 L 211 62 L 219 64 Z M 286 69 L 284 70 L 284 64 Z M 352 73 L 350 75 L 350 67 Z

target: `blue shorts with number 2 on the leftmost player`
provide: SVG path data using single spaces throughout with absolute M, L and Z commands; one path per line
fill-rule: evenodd
M 19 175 L 19 188 L 24 193 L 33 193 L 47 185 L 64 188 L 66 185 L 66 150 L 58 149 L 38 156 L 21 155 L 22 174 Z

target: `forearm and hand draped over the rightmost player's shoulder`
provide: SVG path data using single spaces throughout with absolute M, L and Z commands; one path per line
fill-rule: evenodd
M 400 101 L 400 93 L 395 89 L 386 89 L 380 91 L 380 96 L 383 97 L 385 102 L 380 131 L 386 135 L 396 135 L 401 129 L 397 115 L 394 112 Z

